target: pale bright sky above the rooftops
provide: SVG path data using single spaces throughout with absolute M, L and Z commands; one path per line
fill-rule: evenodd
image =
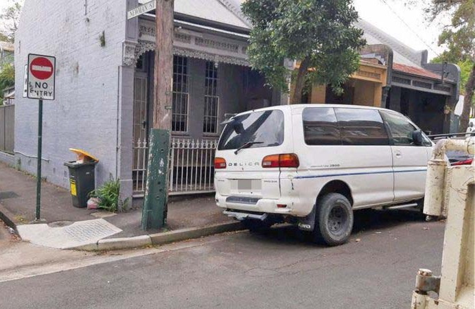
M 12 5 L 12 2 L 13 0 L 0 0 L 0 12 Z M 404 0 L 354 0 L 354 5 L 362 19 L 413 49 L 427 49 L 429 59 L 437 56 L 443 51 L 443 48 L 437 46 L 437 37 L 441 32 L 440 21 L 428 24 L 424 19 L 422 4 L 408 7 L 404 2 Z

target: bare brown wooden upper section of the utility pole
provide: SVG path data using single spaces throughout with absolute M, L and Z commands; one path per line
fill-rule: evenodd
M 174 0 L 157 0 L 153 128 L 170 130 L 173 78 Z

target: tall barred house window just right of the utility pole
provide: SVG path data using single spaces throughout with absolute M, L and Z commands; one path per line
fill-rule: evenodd
M 172 131 L 188 130 L 188 58 L 173 57 Z

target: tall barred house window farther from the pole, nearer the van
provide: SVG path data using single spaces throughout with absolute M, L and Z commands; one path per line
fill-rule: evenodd
M 218 67 L 213 61 L 206 62 L 205 75 L 205 117 L 203 133 L 218 133 Z

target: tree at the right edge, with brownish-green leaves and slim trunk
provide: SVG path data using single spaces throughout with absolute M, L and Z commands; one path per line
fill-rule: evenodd
M 464 132 L 467 130 L 475 91 L 475 0 L 431 0 L 426 12 L 430 21 L 440 14 L 452 15 L 450 25 L 445 25 L 439 36 L 439 45 L 445 45 L 447 49 L 437 60 L 470 66 L 460 117 L 460 130 Z

